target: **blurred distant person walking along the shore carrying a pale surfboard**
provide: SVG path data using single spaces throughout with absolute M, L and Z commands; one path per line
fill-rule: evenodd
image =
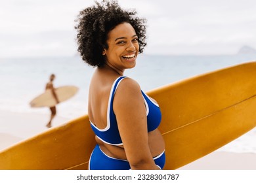
M 45 86 L 45 91 L 46 91 L 46 90 L 51 90 L 51 92 L 53 93 L 53 97 L 54 97 L 54 99 L 56 100 L 56 103 L 59 103 L 58 97 L 57 97 L 57 95 L 56 95 L 56 93 L 55 93 L 55 91 L 54 91 L 54 86 L 53 86 L 53 80 L 54 80 L 54 78 L 55 78 L 55 75 L 52 74 L 52 75 L 50 76 L 49 82 L 47 82 L 47 84 L 46 84 L 46 86 Z M 51 110 L 51 118 L 50 118 L 48 124 L 46 125 L 47 127 L 52 127 L 51 122 L 52 122 L 54 116 L 56 116 L 56 107 L 55 107 L 55 106 L 50 107 L 50 110 Z

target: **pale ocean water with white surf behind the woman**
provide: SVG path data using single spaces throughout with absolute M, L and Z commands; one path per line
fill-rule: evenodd
M 137 80 L 144 91 L 158 88 L 223 67 L 256 60 L 256 55 L 230 56 L 149 56 L 140 55 L 137 66 L 125 75 Z M 0 59 L 0 110 L 41 113 L 48 108 L 31 108 L 30 101 L 44 92 L 51 73 L 54 86 L 74 85 L 79 92 L 57 107 L 58 116 L 77 118 L 87 114 L 89 82 L 94 68 L 79 57 L 70 58 L 8 58 Z M 0 119 L 1 120 L 1 119 Z M 256 153 L 256 129 L 219 149 L 228 152 Z

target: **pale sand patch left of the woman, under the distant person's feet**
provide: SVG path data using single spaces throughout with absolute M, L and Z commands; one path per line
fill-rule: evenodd
M 46 131 L 50 114 L 20 113 L 0 110 L 0 150 L 38 133 Z M 78 116 L 77 116 L 78 117 Z M 52 126 L 65 124 L 71 119 L 56 116 Z

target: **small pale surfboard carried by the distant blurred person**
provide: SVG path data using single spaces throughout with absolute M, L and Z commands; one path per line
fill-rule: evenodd
M 56 95 L 58 97 L 58 101 L 63 102 L 75 95 L 77 93 L 78 88 L 76 86 L 60 86 L 55 89 Z M 31 102 L 31 107 L 53 107 L 55 106 L 56 100 L 53 97 L 53 93 L 51 90 L 47 90 L 41 95 L 35 97 Z

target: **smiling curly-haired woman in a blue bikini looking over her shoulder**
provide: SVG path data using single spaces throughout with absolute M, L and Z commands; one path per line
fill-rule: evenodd
M 136 14 L 116 1 L 102 1 L 77 18 L 77 50 L 96 67 L 88 102 L 96 135 L 89 169 L 163 169 L 165 164 L 160 107 L 124 76 L 146 46 L 146 20 Z

